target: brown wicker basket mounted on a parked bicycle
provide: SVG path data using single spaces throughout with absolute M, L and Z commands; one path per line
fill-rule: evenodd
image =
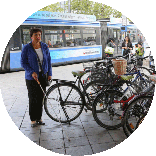
M 116 75 L 126 74 L 127 60 L 125 59 L 113 59 L 114 72 Z

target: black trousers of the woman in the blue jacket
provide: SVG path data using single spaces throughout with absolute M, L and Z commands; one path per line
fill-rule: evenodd
M 39 82 L 44 91 L 46 91 L 46 85 L 42 77 L 42 73 L 39 73 Z M 26 86 L 28 89 L 29 97 L 29 115 L 31 121 L 40 120 L 42 117 L 42 102 L 43 102 L 43 92 L 35 80 L 26 80 Z

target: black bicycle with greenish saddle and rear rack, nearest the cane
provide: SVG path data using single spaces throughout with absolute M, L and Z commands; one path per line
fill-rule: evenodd
M 70 123 L 79 117 L 82 113 L 84 106 L 91 110 L 90 103 L 93 101 L 93 90 L 89 87 L 85 88 L 81 81 L 81 76 L 85 74 L 84 71 L 73 71 L 73 76 L 77 77 L 76 81 L 67 81 L 53 79 L 56 84 L 52 85 L 46 95 L 44 96 L 43 103 L 47 115 L 56 122 Z M 83 91 L 76 86 L 79 81 Z

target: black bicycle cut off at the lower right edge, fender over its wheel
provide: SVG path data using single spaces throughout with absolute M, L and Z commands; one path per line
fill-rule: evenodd
M 156 82 L 151 83 L 149 88 L 135 96 L 125 109 L 123 113 L 122 126 L 127 137 L 129 137 L 140 126 L 143 119 L 149 112 L 154 96 L 155 84 Z

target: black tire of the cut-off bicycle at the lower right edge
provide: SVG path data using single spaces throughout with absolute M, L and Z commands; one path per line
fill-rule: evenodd
M 123 120 L 122 120 L 122 126 L 123 126 L 123 131 L 124 131 L 124 133 L 125 133 L 125 135 L 127 137 L 129 137 L 137 129 L 137 127 L 136 127 L 136 129 L 134 129 L 135 128 L 134 124 L 128 122 L 129 115 L 130 115 L 129 113 L 130 113 L 132 107 L 134 107 L 139 102 L 139 100 L 143 100 L 143 99 L 148 99 L 148 100 L 152 101 L 153 100 L 153 96 L 139 96 L 139 97 L 135 98 L 134 100 L 132 100 L 129 103 L 127 109 L 124 112 L 124 117 L 123 117 Z M 133 114 L 133 112 L 131 112 L 131 114 Z M 140 114 L 136 114 L 135 113 L 135 115 L 139 116 Z M 142 112 L 142 115 L 144 115 L 143 112 Z

